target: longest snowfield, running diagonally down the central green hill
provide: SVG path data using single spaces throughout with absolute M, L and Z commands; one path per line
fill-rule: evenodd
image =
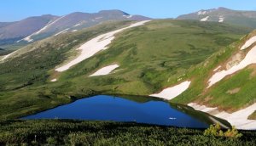
M 77 48 L 77 50 L 81 50 L 81 53 L 79 54 L 79 56 L 77 58 L 71 60 L 66 65 L 63 65 L 55 70 L 59 71 L 59 72 L 68 70 L 73 65 L 77 65 L 80 62 L 82 62 L 84 59 L 88 59 L 91 56 L 93 56 L 94 54 L 107 49 L 108 45 L 113 41 L 115 34 L 121 32 L 121 31 L 125 31 L 126 29 L 129 29 L 132 27 L 144 25 L 148 21 L 150 21 L 150 20 L 140 21 L 140 22 L 132 24 L 128 27 L 125 27 L 125 28 L 122 28 L 122 29 L 119 29 L 116 31 L 110 31 L 110 32 L 102 34 L 100 36 L 96 36 L 95 38 L 91 39 L 90 41 L 85 42 L 81 47 Z

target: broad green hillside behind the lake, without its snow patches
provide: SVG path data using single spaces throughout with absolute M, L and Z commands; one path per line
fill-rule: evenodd
M 79 44 L 128 23 L 103 24 L 50 37 L 22 48 L 20 56 L 0 64 L 0 118 L 29 115 L 97 93 L 148 95 L 158 92 L 177 83 L 179 78 L 188 79 L 200 73 L 203 70 L 186 74 L 191 66 L 200 64 L 250 31 L 219 23 L 154 20 L 120 33 L 108 50 L 70 70 L 54 71 L 55 66 L 75 55 Z M 123 70 L 108 76 L 88 77 L 114 63 Z M 58 81 L 50 82 L 53 78 Z M 201 90 L 193 92 L 192 96 L 183 94 L 186 97 L 179 103 L 195 99 L 194 95 Z

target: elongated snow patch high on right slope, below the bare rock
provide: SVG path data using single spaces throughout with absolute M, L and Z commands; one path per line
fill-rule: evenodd
M 247 65 L 256 64 L 256 46 L 252 48 L 246 55 L 245 59 L 241 60 L 241 62 L 238 65 L 234 65 L 229 70 L 222 70 L 215 73 L 210 79 L 209 79 L 209 87 L 212 87 L 213 84 L 215 84 L 218 81 L 221 81 L 225 76 L 231 75 L 235 73 L 238 70 L 242 70 Z

